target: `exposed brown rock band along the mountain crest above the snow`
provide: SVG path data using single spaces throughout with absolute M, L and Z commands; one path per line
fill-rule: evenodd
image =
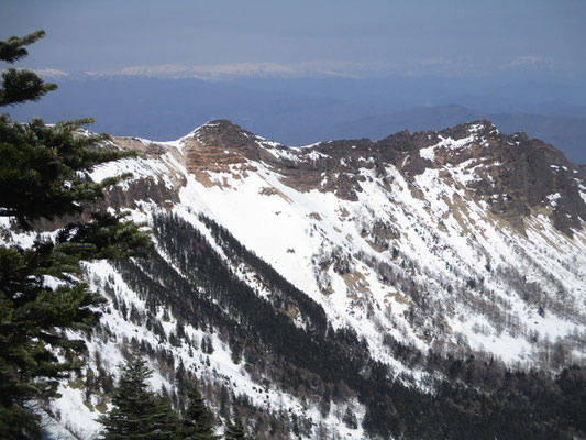
M 489 121 L 438 132 L 402 131 L 380 141 L 342 140 L 287 147 L 219 120 L 202 125 L 181 142 L 187 168 L 209 185 L 208 172 L 245 176 L 247 170 L 255 170 L 253 163 L 264 163 L 283 176 L 283 183 L 298 190 L 330 191 L 355 201 L 366 178 L 361 169 L 375 169 L 386 180 L 388 165 L 397 167 L 407 179 L 427 168 L 442 168 L 444 179 L 450 182 L 453 169 L 463 167 L 469 176 L 465 185 L 471 195 L 520 231 L 523 218 L 537 211 L 549 216 L 555 228 L 568 235 L 572 228 L 581 228 L 586 220 L 586 204 L 578 187 L 586 173 L 584 166 L 570 163 L 552 145 L 530 140 L 524 133 L 505 135 Z M 162 145 L 145 146 L 128 139 L 117 139 L 115 143 L 146 156 L 165 151 Z M 156 194 L 150 197 L 157 198 Z

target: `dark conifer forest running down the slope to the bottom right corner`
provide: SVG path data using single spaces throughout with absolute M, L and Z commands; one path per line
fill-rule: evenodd
M 367 408 L 363 427 L 373 437 L 570 439 L 586 432 L 584 370 L 570 367 L 556 376 L 517 372 L 486 356 L 421 353 L 387 338 L 398 359 L 429 373 L 433 392 L 424 392 L 408 377 L 392 378 L 388 366 L 371 359 L 365 341 L 351 330 L 334 331 L 321 306 L 225 229 L 200 220 L 228 262 L 192 226 L 165 215 L 154 218 L 155 238 L 183 275 L 155 251 L 146 260 L 117 263 L 146 301 L 144 319 L 151 324 L 156 326 L 157 307 L 163 307 L 178 328 L 189 323 L 215 332 L 234 362 L 258 382 L 268 377 L 323 413 L 330 400 L 357 397 Z M 245 267 L 258 287 L 244 283 L 231 266 Z M 257 289 L 269 293 L 266 299 Z M 287 315 L 291 307 L 302 326 Z

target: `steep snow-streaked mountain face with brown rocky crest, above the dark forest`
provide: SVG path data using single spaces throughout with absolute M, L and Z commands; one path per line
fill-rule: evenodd
M 217 121 L 176 146 L 195 180 L 178 188 L 183 205 L 371 344 L 389 332 L 418 346 L 454 342 L 469 333 L 457 317 L 485 302 L 496 307 L 488 326 L 551 327 L 552 340 L 567 330 L 554 320 L 583 316 L 583 174 L 551 145 L 479 121 L 287 147 Z M 406 321 L 409 310 L 421 322 Z M 478 349 L 494 338 L 474 339 Z M 530 351 L 499 353 L 498 340 L 489 351 L 511 361 Z

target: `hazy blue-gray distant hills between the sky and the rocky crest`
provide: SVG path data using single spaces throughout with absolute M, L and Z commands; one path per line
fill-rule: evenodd
M 92 130 L 173 140 L 226 118 L 288 145 L 324 139 L 380 139 L 409 130 L 489 119 L 506 133 L 524 131 L 586 163 L 586 106 L 575 85 L 520 78 L 246 78 L 222 81 L 144 77 L 59 79 L 59 89 L 14 109 L 20 121 L 92 117 Z M 545 102 L 545 103 L 544 103 Z M 578 102 L 578 105 L 575 105 Z

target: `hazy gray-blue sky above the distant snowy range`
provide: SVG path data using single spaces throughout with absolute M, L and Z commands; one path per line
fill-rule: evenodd
M 585 0 L 0 0 L 23 65 L 66 72 L 276 63 L 406 75 L 586 74 Z

